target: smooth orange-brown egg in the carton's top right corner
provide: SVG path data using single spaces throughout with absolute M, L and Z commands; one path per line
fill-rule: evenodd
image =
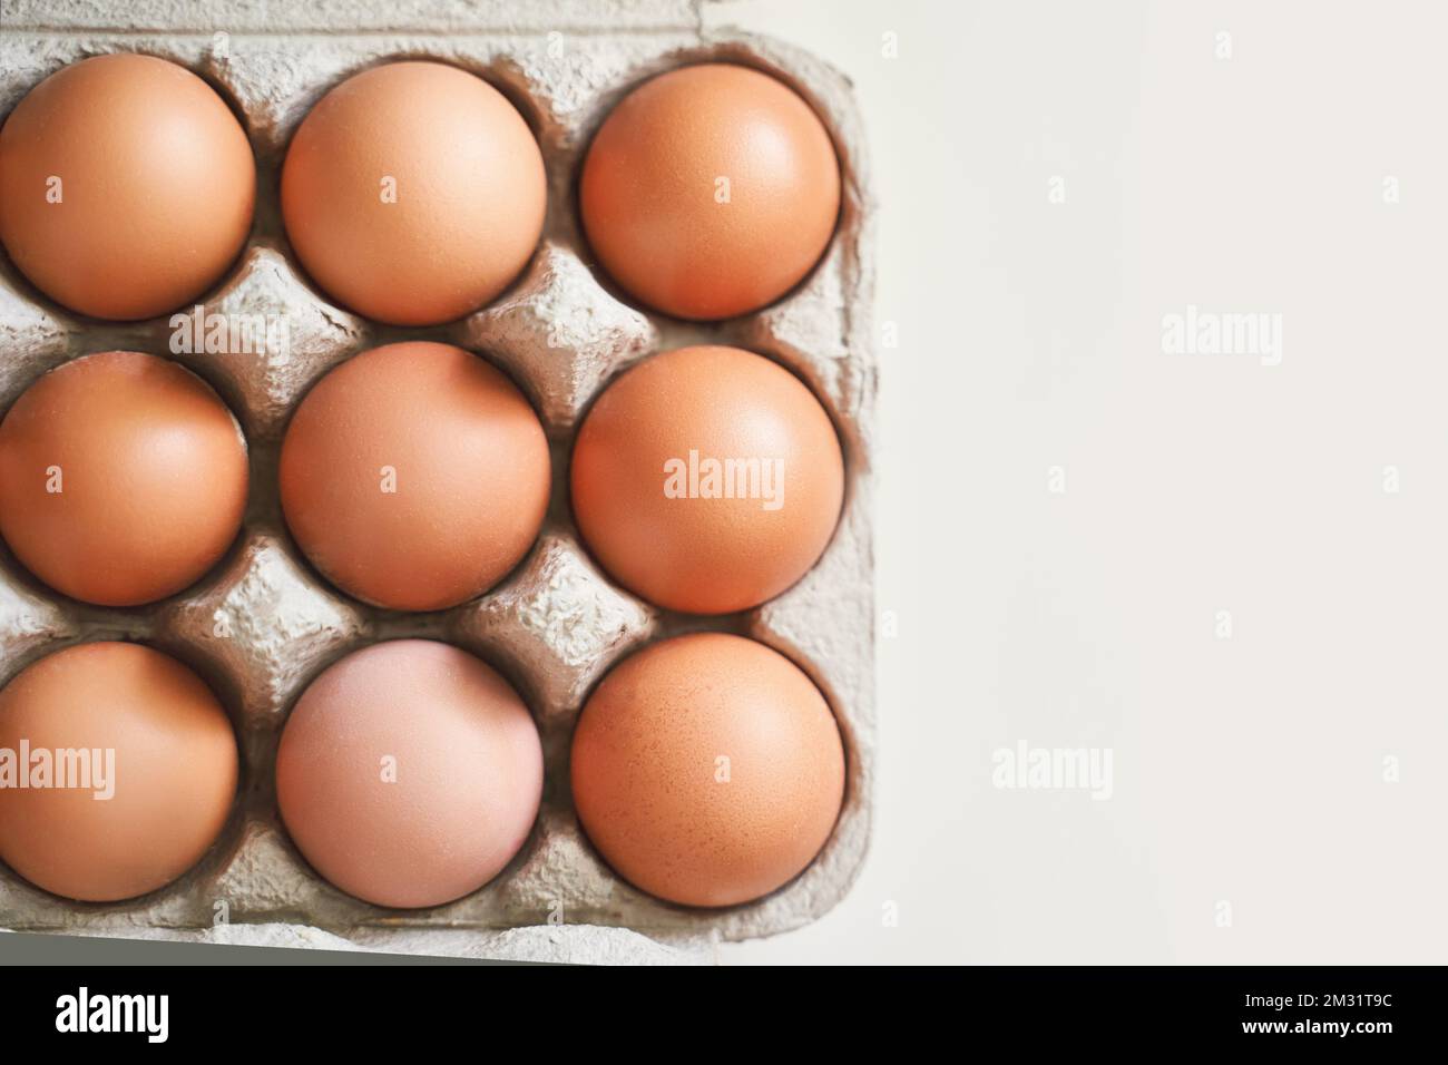
M 734 317 L 814 270 L 840 213 L 840 162 L 780 81 L 699 64 L 613 110 L 579 203 L 594 254 L 633 296 L 676 317 Z

